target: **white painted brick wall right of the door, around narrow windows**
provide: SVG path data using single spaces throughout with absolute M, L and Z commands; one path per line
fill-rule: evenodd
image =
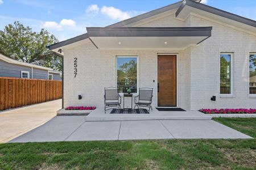
M 212 37 L 191 49 L 191 109 L 256 108 L 249 97 L 249 52 L 256 50 L 256 36 L 191 15 L 191 27 L 212 26 Z M 233 97 L 220 97 L 220 53 L 234 53 Z M 203 71 L 202 71 L 203 70 Z M 216 101 L 210 101 L 211 96 Z

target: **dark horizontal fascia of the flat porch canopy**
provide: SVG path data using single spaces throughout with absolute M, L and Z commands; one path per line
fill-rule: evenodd
M 89 37 L 211 36 L 212 27 L 88 27 Z

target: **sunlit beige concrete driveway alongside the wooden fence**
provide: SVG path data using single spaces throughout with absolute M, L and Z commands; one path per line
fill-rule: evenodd
M 51 120 L 60 108 L 61 100 L 54 100 L 0 112 L 0 143 L 8 142 Z

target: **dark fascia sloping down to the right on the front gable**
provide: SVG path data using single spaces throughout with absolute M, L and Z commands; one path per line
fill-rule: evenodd
M 247 24 L 247 25 L 256 27 L 256 21 L 255 20 L 248 19 L 248 18 L 239 16 L 239 15 L 232 14 L 230 12 L 220 10 L 218 8 L 214 8 L 214 7 L 211 7 L 211 6 L 208 6 L 208 5 L 204 5 L 203 3 L 198 3 L 198 2 L 195 2 L 195 1 L 191 1 L 191 0 L 184 0 L 183 1 L 182 5 L 176 11 L 176 17 L 179 15 L 179 13 L 183 10 L 183 8 L 186 5 L 197 8 L 199 10 L 210 12 L 210 13 L 218 15 L 218 16 L 222 16 L 224 18 L 235 20 L 236 22 L 240 22 L 240 23 L 243 23 L 243 24 Z

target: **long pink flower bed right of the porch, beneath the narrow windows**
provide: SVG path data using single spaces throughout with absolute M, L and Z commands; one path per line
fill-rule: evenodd
M 200 109 L 200 112 L 206 114 L 253 114 L 256 109 Z

